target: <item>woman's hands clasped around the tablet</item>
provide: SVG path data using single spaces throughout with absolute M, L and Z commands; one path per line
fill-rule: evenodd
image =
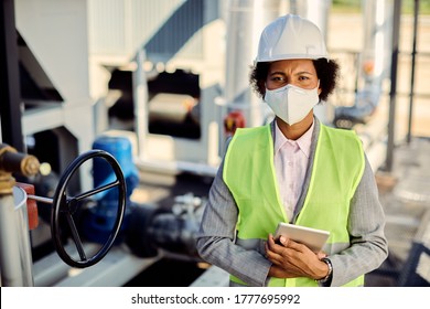
M 269 276 L 277 278 L 309 277 L 321 279 L 329 273 L 329 267 L 320 259 L 324 253 L 313 253 L 303 244 L 281 236 L 279 244 L 270 234 L 266 243 L 266 257 L 273 264 Z

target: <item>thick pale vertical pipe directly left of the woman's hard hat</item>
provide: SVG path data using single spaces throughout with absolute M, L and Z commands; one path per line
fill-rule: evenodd
M 270 116 L 269 108 L 249 87 L 249 71 L 257 55 L 259 35 L 267 23 L 280 14 L 280 0 L 229 0 L 226 12 L 226 66 L 224 99 L 219 124 L 234 110 L 240 110 L 246 127 L 256 127 Z M 224 152 L 227 136 L 219 126 L 219 154 Z

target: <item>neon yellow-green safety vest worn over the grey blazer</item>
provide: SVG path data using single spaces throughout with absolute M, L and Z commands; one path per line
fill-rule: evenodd
M 362 142 L 353 131 L 320 126 L 310 185 L 295 224 L 331 232 L 324 252 L 350 246 L 350 202 L 364 171 Z M 282 206 L 273 166 L 270 126 L 238 129 L 224 162 L 223 178 L 239 210 L 237 244 L 258 243 L 273 233 L 278 222 L 289 222 Z M 232 276 L 232 280 L 243 284 Z M 361 276 L 345 286 L 362 286 Z M 269 286 L 316 286 L 305 278 L 271 278 Z

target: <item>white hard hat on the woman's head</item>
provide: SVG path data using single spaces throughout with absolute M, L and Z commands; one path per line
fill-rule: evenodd
M 289 58 L 329 58 L 320 29 L 293 14 L 280 17 L 265 28 L 256 63 Z

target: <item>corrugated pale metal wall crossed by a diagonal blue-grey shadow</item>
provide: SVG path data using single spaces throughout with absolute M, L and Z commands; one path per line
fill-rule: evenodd
M 205 0 L 88 0 L 89 53 L 166 62 L 187 44 L 184 57 L 202 57 Z

